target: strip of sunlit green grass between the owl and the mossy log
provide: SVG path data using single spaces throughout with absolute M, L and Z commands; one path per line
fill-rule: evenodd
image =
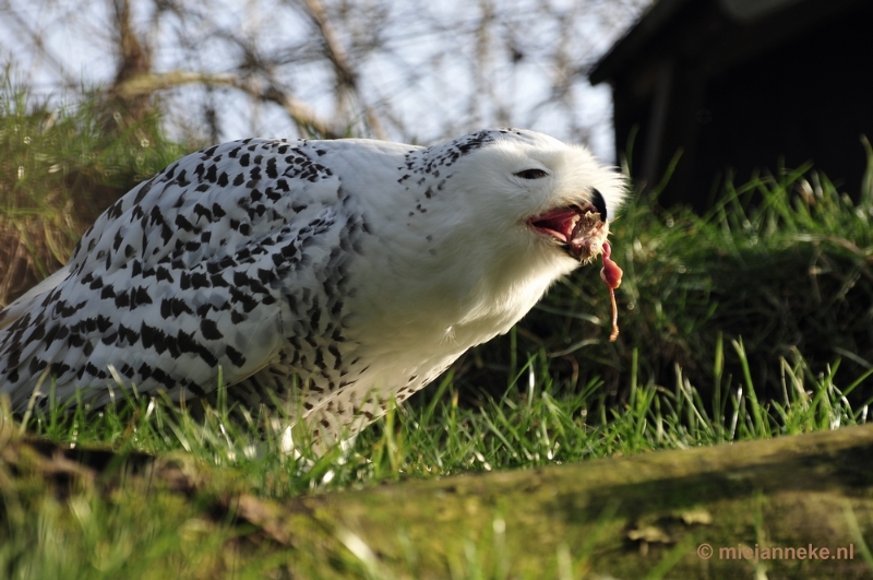
M 729 347 L 748 364 L 742 342 Z M 577 392 L 555 390 L 548 358 L 533 355 L 501 398 L 486 395 L 478 407 L 459 405 L 450 374 L 419 395 L 420 404 L 392 407 L 351 446 L 334 446 L 323 457 L 284 452 L 283 427 L 275 427 L 271 416 L 254 413 L 240 421 L 230 410 L 210 406 L 192 414 L 159 396 L 119 394 L 116 404 L 87 412 L 82 404 L 53 405 L 16 428 L 122 452 L 190 453 L 210 465 L 239 467 L 251 489 L 284 497 L 385 480 L 768 439 L 866 421 L 870 401 L 853 407 L 847 395 L 873 370 L 840 381 L 839 360 L 817 376 L 799 355 L 779 365 L 784 391 L 778 399 L 761 400 L 749 377 L 726 382 L 708 396 L 678 368 L 673 384 L 633 381 L 627 402 L 610 407 L 598 381 Z M 714 370 L 720 372 L 718 365 Z

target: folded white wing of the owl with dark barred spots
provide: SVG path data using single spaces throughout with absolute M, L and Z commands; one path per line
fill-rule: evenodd
M 288 336 L 336 332 L 338 321 L 315 312 L 340 315 L 366 226 L 349 188 L 320 163 L 324 147 L 226 143 L 131 190 L 64 269 L 4 310 L 0 390 L 22 409 L 49 369 L 59 399 L 91 388 L 99 404 L 111 366 L 140 392 L 184 399 L 214 389 L 219 366 L 238 382 Z

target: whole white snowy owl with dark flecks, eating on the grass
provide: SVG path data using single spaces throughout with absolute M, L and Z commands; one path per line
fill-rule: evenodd
M 229 402 L 354 434 L 608 252 L 624 194 L 586 149 L 527 130 L 216 145 L 0 312 L 0 391 L 20 412 L 51 388 L 104 405 L 119 378 L 208 399 L 220 368 Z

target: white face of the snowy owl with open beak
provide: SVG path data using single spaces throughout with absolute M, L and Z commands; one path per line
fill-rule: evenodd
M 466 189 L 458 201 L 491 232 L 486 238 L 501 240 L 497 251 L 530 253 L 562 269 L 589 261 L 601 252 L 625 197 L 624 178 L 582 146 L 519 133 L 458 163 L 456 184 Z

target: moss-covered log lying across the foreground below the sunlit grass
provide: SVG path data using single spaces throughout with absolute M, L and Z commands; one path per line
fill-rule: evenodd
M 60 489 L 123 480 L 150 501 L 164 482 L 201 517 L 287 554 L 295 578 L 805 580 L 873 578 L 872 459 L 870 425 L 275 500 L 184 455 L 8 440 L 0 475 L 41 474 Z

